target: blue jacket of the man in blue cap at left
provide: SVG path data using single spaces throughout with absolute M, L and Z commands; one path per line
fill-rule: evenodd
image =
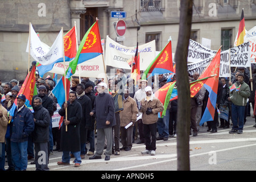
M 34 117 L 30 109 L 23 106 L 21 110 L 15 110 L 13 117 L 12 142 L 25 142 L 28 135 L 34 130 Z

